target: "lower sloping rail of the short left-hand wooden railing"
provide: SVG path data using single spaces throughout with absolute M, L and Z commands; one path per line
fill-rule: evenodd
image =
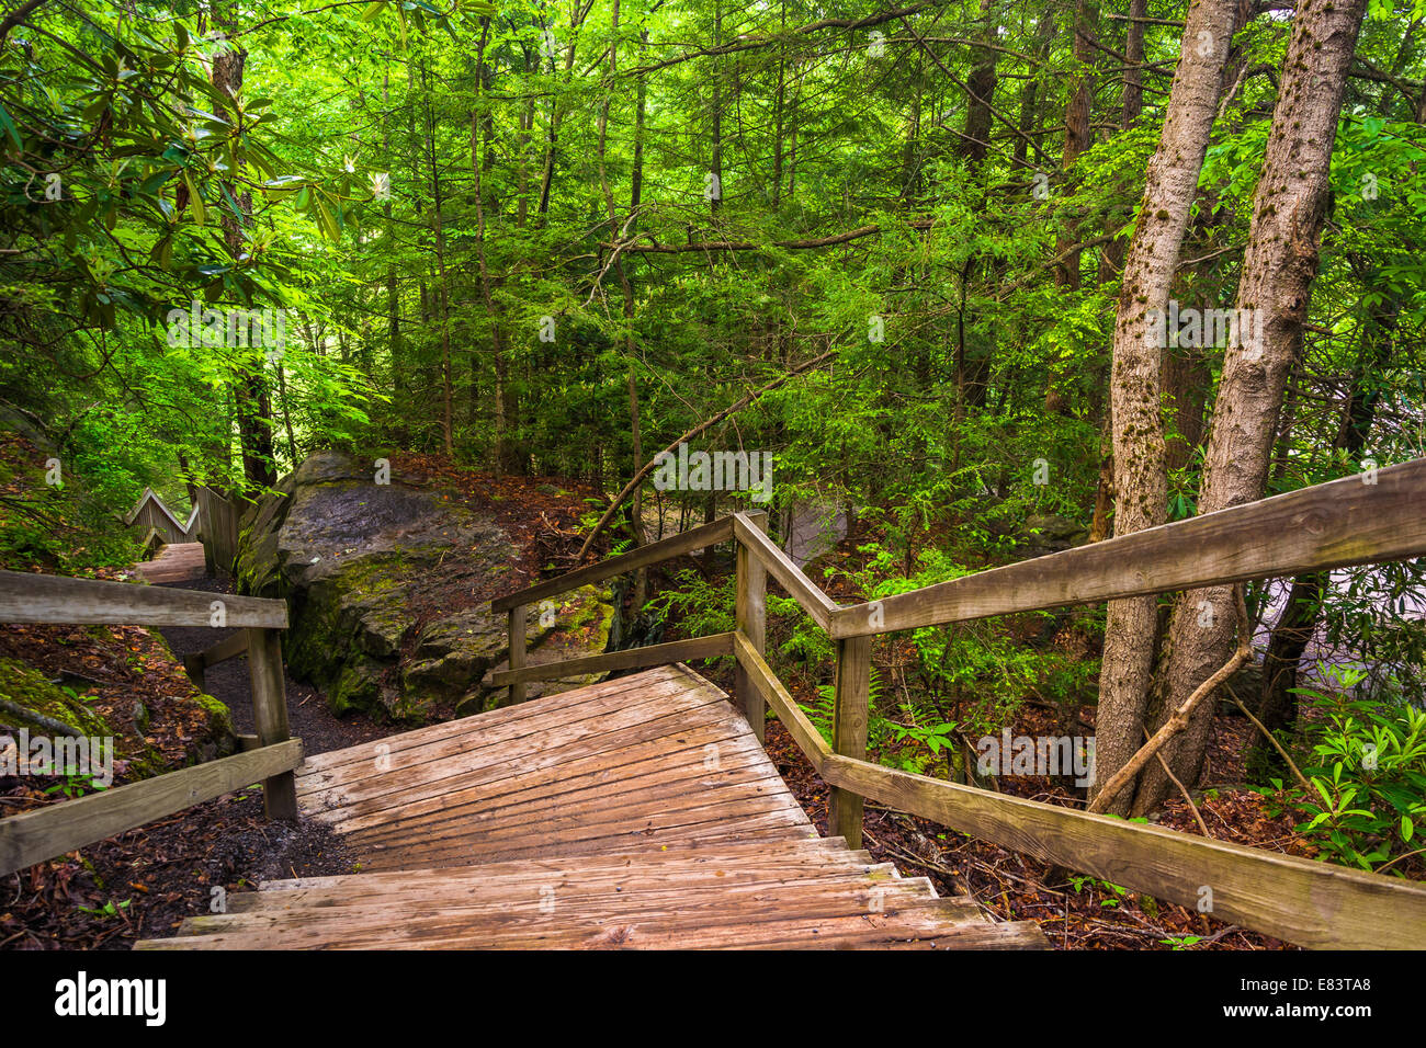
M 104 793 L 0 818 L 0 875 L 171 816 L 302 763 L 302 743 L 289 739 L 207 764 L 170 771 Z

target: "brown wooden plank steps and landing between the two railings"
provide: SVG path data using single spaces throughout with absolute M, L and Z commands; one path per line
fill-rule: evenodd
M 362 873 L 140 948 L 1038 948 L 820 838 L 727 697 L 660 669 L 309 757 Z

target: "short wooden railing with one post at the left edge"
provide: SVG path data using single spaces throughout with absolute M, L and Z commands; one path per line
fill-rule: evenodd
M 289 737 L 278 635 L 287 629 L 287 602 L 0 572 L 0 623 L 238 626 L 240 633 L 185 664 L 190 673 L 197 669 L 202 687 L 202 669 L 247 653 L 257 726 L 255 737 L 240 737 L 244 751 L 231 757 L 0 818 L 0 875 L 260 780 L 267 817 L 297 818 L 292 773 L 302 764 L 302 744 Z

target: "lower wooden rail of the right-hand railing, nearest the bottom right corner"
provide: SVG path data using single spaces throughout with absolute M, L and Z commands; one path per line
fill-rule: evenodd
M 1316 948 L 1426 947 L 1426 885 L 831 756 L 823 779 L 1045 863 Z

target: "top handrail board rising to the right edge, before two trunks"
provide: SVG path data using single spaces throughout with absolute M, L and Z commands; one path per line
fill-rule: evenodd
M 1426 555 L 1426 459 L 843 607 L 833 637 Z

